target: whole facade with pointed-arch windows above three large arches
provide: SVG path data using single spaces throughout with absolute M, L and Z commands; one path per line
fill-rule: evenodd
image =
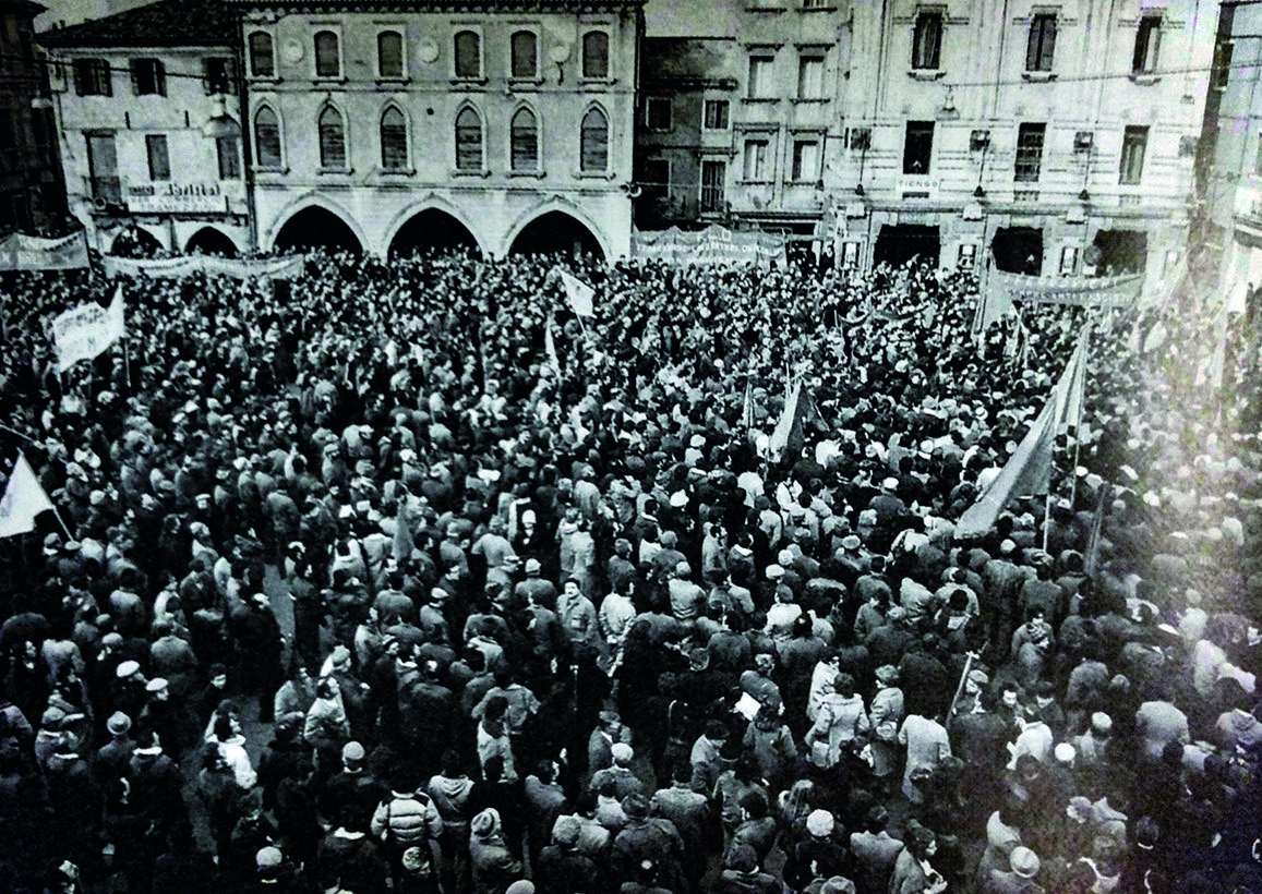
M 262 250 L 628 252 L 637 0 L 233 5 Z

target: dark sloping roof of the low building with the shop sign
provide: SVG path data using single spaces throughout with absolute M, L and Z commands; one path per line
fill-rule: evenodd
M 237 10 L 222 0 L 158 0 L 35 35 L 42 47 L 231 47 Z

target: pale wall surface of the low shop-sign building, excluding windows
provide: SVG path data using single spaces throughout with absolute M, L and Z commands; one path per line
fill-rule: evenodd
M 226 96 L 223 105 L 218 105 L 202 79 L 204 57 L 228 55 L 227 48 L 209 47 L 61 50 L 59 58 L 67 64 L 54 88 L 69 211 L 87 227 L 93 247 L 110 252 L 115 240 L 133 227 L 175 252 L 183 252 L 189 240 L 206 227 L 226 236 L 237 251 L 250 247 L 244 177 L 220 179 L 216 142 L 202 131 L 221 112 L 241 120 L 236 97 Z M 78 58 L 107 61 L 114 69 L 111 96 L 77 93 L 72 64 Z M 165 96 L 135 95 L 133 58 L 162 62 Z M 91 135 L 114 137 L 120 202 L 106 200 L 111 194 L 107 183 L 93 183 L 88 158 Z M 167 140 L 169 179 L 150 178 L 149 136 Z M 239 169 L 244 166 L 239 164 Z

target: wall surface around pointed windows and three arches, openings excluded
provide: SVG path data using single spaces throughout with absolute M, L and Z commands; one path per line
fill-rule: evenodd
M 275 72 L 249 72 L 250 116 L 265 106 L 280 120 L 283 163 L 262 168 L 255 159 L 255 213 L 262 248 L 276 240 L 298 211 L 336 211 L 365 250 L 384 253 L 416 213 L 452 213 L 491 255 L 507 252 L 531 219 L 564 211 L 596 236 L 607 256 L 630 250 L 630 199 L 639 6 L 604 13 L 271 13 L 246 14 L 245 39 L 271 37 Z M 454 35 L 481 35 L 482 76 L 462 79 L 454 71 Z M 510 39 L 517 30 L 538 37 L 536 77 L 510 77 Z M 338 37 L 341 73 L 319 78 L 314 35 Z M 377 39 L 403 35 L 404 77 L 381 78 Z M 583 35 L 610 37 L 607 78 L 582 77 Z M 318 121 L 334 108 L 346 134 L 345 170 L 324 170 Z M 380 122 L 395 107 L 408 129 L 408 164 L 382 168 Z M 481 170 L 457 169 L 454 126 L 464 107 L 482 122 Z M 519 108 L 534 112 L 540 132 L 538 173 L 510 169 L 510 122 Z M 608 165 L 579 169 L 579 132 L 588 110 L 608 122 Z

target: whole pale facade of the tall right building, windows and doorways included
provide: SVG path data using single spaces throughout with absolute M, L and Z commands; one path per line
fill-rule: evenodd
M 1214 32 L 1194 0 L 856 5 L 838 257 L 1169 287 Z

